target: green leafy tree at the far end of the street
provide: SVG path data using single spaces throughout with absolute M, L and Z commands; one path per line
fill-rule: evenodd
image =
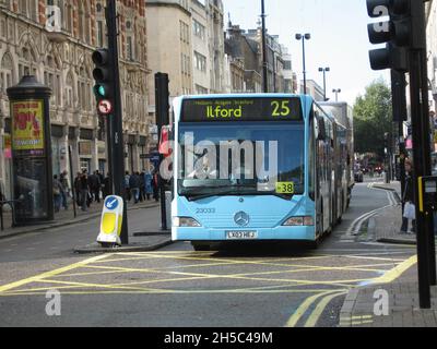
M 383 158 L 385 133 L 392 133 L 391 91 L 383 79 L 374 81 L 366 87 L 365 96 L 356 98 L 354 122 L 356 152 Z

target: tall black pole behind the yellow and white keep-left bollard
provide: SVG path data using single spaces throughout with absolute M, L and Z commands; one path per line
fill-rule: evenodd
M 117 31 L 117 7 L 116 0 L 107 0 L 106 21 L 108 26 L 108 49 L 114 67 L 114 113 L 109 116 L 111 122 L 111 146 L 113 146 L 113 180 L 117 196 L 125 200 L 123 219 L 121 226 L 121 243 L 129 244 L 128 231 L 128 207 L 125 191 L 125 143 L 122 134 L 122 109 L 120 95 L 120 70 L 118 65 L 118 31 Z

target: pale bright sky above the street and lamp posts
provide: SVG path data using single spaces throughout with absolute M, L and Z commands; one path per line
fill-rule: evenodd
M 367 15 L 366 0 L 264 0 L 267 28 L 279 35 L 279 41 L 293 56 L 293 70 L 303 79 L 302 41 L 296 33 L 310 33 L 305 41 L 307 79 L 323 86 L 319 68 L 329 67 L 327 97 L 335 99 L 333 88 L 341 88 L 340 100 L 350 105 L 373 81 L 383 77 L 389 83 L 388 71 L 373 71 L 368 50 L 378 48 L 367 36 L 367 24 L 375 22 Z M 256 28 L 261 14 L 261 0 L 223 0 L 225 26 L 228 13 L 234 25 L 244 29 Z

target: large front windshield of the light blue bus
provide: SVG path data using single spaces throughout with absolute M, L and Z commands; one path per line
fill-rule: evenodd
M 178 194 L 303 195 L 304 129 L 302 122 L 180 123 Z

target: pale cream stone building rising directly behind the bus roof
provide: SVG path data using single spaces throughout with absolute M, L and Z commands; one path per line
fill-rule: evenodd
M 225 92 L 221 0 L 146 0 L 149 60 L 153 75 L 169 76 L 170 99 Z M 150 116 L 155 87 L 149 84 Z

